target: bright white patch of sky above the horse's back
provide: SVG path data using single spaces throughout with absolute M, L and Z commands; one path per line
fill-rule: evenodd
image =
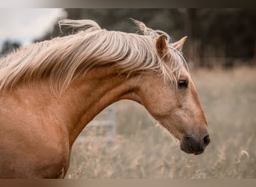
M 60 8 L 1 8 L 0 49 L 5 40 L 17 41 L 22 45 L 31 43 L 52 30 L 59 18 L 66 16 L 66 12 Z

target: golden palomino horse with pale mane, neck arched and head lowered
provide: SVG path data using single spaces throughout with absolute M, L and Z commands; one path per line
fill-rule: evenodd
M 143 35 L 63 19 L 77 34 L 25 46 L 0 60 L 0 177 L 61 178 L 71 147 L 103 108 L 141 103 L 186 153 L 210 142 L 207 120 L 181 49 L 163 31 Z

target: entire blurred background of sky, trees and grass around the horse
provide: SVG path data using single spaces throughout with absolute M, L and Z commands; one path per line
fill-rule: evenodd
M 136 32 L 129 18 L 188 40 L 183 53 L 209 123 L 205 153 L 183 153 L 147 111 L 123 100 L 86 126 L 66 178 L 256 178 L 255 9 L 1 9 L 0 56 L 61 36 L 60 18 Z

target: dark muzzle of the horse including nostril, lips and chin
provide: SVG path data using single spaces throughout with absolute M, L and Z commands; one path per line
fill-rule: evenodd
M 204 153 L 204 150 L 209 143 L 209 135 L 204 135 L 202 138 L 193 138 L 192 136 L 185 135 L 183 141 L 180 143 L 180 150 L 183 150 L 185 153 L 199 155 Z

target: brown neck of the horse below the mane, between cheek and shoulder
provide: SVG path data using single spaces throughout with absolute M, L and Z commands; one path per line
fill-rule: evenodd
M 61 96 L 62 115 L 67 119 L 67 131 L 70 144 L 76 140 L 82 129 L 97 115 L 120 99 L 132 99 L 139 102 L 135 93 L 136 76 L 118 75 L 108 67 L 97 67 L 75 79 Z

